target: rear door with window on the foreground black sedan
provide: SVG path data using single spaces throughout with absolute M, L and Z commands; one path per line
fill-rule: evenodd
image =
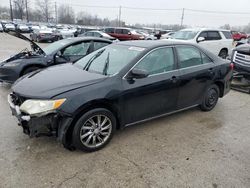
M 178 109 L 200 104 L 215 76 L 214 63 L 200 49 L 190 45 L 176 46 L 180 70 Z

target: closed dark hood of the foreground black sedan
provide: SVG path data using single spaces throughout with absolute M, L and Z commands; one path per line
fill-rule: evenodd
M 12 90 L 26 98 L 49 99 L 106 78 L 104 75 L 90 73 L 67 63 L 27 74 L 15 82 Z

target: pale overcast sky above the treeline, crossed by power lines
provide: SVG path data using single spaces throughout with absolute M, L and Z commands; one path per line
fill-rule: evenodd
M 35 0 L 31 7 L 34 7 Z M 71 5 L 76 12 L 86 11 L 99 17 L 115 19 L 118 17 L 118 8 L 92 8 L 84 5 L 112 6 L 112 7 L 136 7 L 155 9 L 198 9 L 224 12 L 249 12 L 249 14 L 209 14 L 201 12 L 185 11 L 184 24 L 190 26 L 218 27 L 224 24 L 234 26 L 250 23 L 249 0 L 51 0 Z M 9 5 L 9 0 L 0 0 L 0 5 Z M 82 6 L 80 6 L 82 5 Z M 121 18 L 128 24 L 135 23 L 161 23 L 180 24 L 182 11 L 167 10 L 136 10 L 122 8 Z

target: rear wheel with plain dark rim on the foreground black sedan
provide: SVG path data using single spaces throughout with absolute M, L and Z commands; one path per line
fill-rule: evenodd
M 220 96 L 219 87 L 215 84 L 211 85 L 203 98 L 200 108 L 202 111 L 211 111 L 217 104 Z

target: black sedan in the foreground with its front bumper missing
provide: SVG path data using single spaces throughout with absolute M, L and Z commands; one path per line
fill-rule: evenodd
M 95 151 L 116 129 L 195 106 L 212 110 L 230 90 L 232 68 L 188 43 L 118 42 L 22 77 L 8 101 L 24 133 Z

